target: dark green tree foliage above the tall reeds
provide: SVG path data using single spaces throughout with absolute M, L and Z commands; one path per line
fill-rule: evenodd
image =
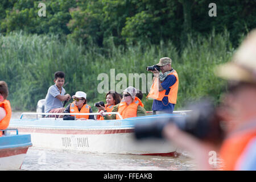
M 39 2 L 46 4 L 46 17 L 39 17 Z M 117 46 L 171 40 L 178 48 L 187 35 L 208 35 L 215 28 L 230 32 L 234 46 L 256 27 L 256 1 L 216 0 L 217 16 L 210 17 L 209 0 L 3 0 L 0 32 L 23 30 L 32 34 L 59 34 L 88 47 Z

